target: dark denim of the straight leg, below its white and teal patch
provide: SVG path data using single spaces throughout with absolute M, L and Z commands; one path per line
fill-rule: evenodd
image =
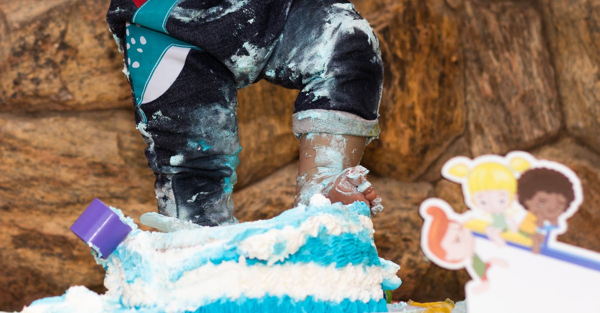
M 232 191 L 241 149 L 236 108 L 230 71 L 194 49 L 166 92 L 137 106 L 161 214 L 199 225 L 236 221 Z

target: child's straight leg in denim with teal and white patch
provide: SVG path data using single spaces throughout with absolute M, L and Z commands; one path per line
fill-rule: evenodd
M 234 222 L 240 148 L 230 71 L 208 53 L 144 27 L 127 25 L 121 41 L 158 211 L 200 225 Z

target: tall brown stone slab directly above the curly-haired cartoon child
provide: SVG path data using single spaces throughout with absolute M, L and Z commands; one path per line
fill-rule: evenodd
M 461 40 L 473 156 L 529 149 L 561 126 L 542 19 L 530 2 L 466 1 Z

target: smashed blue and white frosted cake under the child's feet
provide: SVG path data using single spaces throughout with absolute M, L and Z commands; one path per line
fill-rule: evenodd
M 106 259 L 106 294 L 71 287 L 23 312 L 385 312 L 400 268 L 377 255 L 364 203 L 169 233 L 133 229 Z M 105 256 L 106 257 L 106 256 Z

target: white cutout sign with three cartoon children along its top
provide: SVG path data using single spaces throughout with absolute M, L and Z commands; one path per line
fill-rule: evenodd
M 583 312 L 593 305 L 600 254 L 557 240 L 583 201 L 570 168 L 516 151 L 452 158 L 442 176 L 460 183 L 468 210 L 425 200 L 421 248 L 441 267 L 467 270 L 467 311 Z

